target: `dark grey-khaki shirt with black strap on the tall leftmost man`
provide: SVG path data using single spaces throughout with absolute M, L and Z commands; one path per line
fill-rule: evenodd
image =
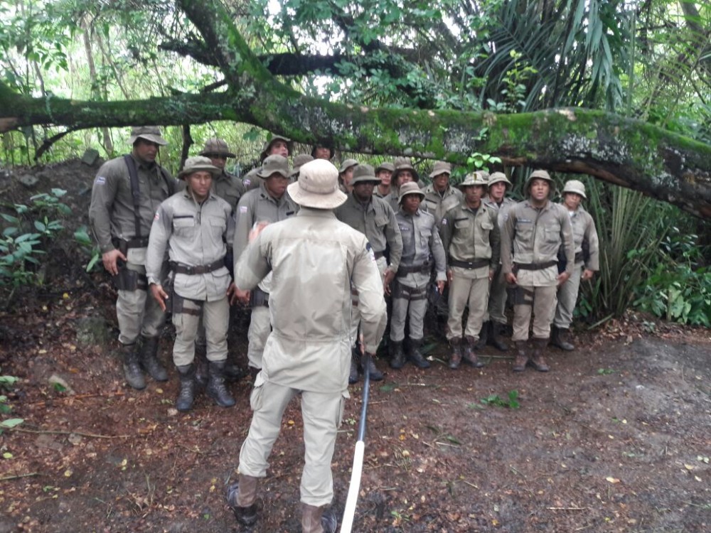
M 147 239 L 156 209 L 175 192 L 177 183 L 167 171 L 164 178 L 158 164 L 147 165 L 135 157 L 134 161 L 141 195 L 141 237 Z M 135 220 L 131 177 L 126 161 L 123 157 L 111 159 L 97 172 L 89 207 L 89 223 L 102 254 L 114 249 L 112 237 L 122 240 L 138 237 Z

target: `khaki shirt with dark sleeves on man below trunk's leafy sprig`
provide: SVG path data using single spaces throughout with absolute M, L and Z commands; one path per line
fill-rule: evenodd
M 476 271 L 476 277 L 488 276 L 489 269 L 496 270 L 501 254 L 501 232 L 496 215 L 496 210 L 483 202 L 476 210 L 464 202 L 449 210 L 442 219 L 440 230 L 449 261 L 474 262 L 487 259 L 488 266 L 472 269 Z

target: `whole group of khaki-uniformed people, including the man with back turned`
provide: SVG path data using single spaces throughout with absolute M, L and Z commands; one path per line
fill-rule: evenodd
M 295 156 L 292 167 L 292 144 L 282 136 L 265 144 L 261 166 L 244 178 L 225 171 L 235 156 L 225 141 L 209 139 L 176 181 L 156 163 L 166 144 L 159 128 L 134 127 L 129 142 L 131 154 L 98 171 L 90 206 L 118 290 L 124 375 L 135 389 L 145 387 L 144 372 L 168 379 L 157 350 L 169 304 L 181 384 L 176 409 L 191 410 L 198 383 L 216 404 L 234 405 L 225 386 L 240 375 L 228 362 L 230 303 L 250 306 L 254 416 L 239 483 L 228 492 L 242 524 L 257 519 L 258 479 L 284 409 L 301 394 L 302 528 L 335 529 L 324 511 L 333 497 L 336 429 L 359 370 L 368 365 L 371 379 L 383 379 L 373 357 L 386 299 L 393 369 L 408 361 L 429 367 L 419 351 L 429 301 L 447 307 L 452 369 L 462 361 L 481 367 L 476 352 L 487 342 L 507 350 L 501 333 L 512 287 L 515 372 L 547 371 L 549 343 L 574 348 L 565 334 L 579 282 L 598 269 L 597 233 L 580 206 L 579 181 L 565 185 L 562 204 L 552 203 L 555 183 L 534 171 L 526 200 L 515 203 L 504 173 L 474 172 L 454 186 L 443 161 L 434 163 L 429 185 L 409 158 L 377 168 L 346 159 L 336 168 L 325 146 Z M 196 345 L 198 352 L 204 346 L 206 372 Z

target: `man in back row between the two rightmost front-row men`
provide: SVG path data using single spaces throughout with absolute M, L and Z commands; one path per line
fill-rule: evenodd
M 494 172 L 487 181 L 487 194 L 483 203 L 496 210 L 498 229 L 501 231 L 503 231 L 503 224 L 508 218 L 508 210 L 516 205 L 515 200 L 506 197 L 506 191 L 510 190 L 512 186 L 503 172 Z M 486 344 L 490 344 L 502 352 L 508 350 L 508 346 L 501 338 L 507 323 L 505 312 L 508 293 L 506 289 L 506 276 L 501 271 L 501 264 L 499 264 L 489 287 L 488 307 L 477 343 L 479 350 L 483 350 Z

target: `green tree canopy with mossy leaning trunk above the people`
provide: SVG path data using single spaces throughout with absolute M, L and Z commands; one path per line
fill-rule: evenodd
M 233 120 L 365 154 L 463 163 L 478 152 L 585 173 L 711 217 L 704 3 L 26 0 L 0 9 L 14 21 L 0 34 L 0 131 Z M 88 90 L 50 88 L 48 72 L 77 70 L 77 37 Z

